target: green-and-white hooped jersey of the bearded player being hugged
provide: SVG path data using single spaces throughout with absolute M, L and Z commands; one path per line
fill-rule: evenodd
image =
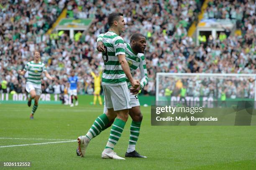
M 134 76 L 136 69 L 141 71 L 141 89 L 148 83 L 148 74 L 146 68 L 146 61 L 143 53 L 135 54 L 131 49 L 130 44 L 125 43 L 125 58 L 131 70 L 132 76 Z M 126 78 L 128 88 L 131 87 L 129 79 Z

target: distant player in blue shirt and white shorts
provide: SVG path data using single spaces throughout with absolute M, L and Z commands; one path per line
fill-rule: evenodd
M 77 82 L 78 78 L 77 76 L 74 75 L 74 70 L 70 71 L 70 77 L 69 77 L 69 84 L 68 84 L 68 89 L 69 89 L 69 95 L 71 96 L 71 104 L 70 107 L 74 107 L 74 99 L 76 100 L 75 106 L 78 106 L 78 98 L 77 98 Z

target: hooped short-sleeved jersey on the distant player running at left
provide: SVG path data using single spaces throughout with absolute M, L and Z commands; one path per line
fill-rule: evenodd
M 27 82 L 41 85 L 41 74 L 43 71 L 46 71 L 44 63 L 42 63 L 41 61 L 39 63 L 34 63 L 34 61 L 30 61 L 26 64 L 23 70 L 28 71 Z

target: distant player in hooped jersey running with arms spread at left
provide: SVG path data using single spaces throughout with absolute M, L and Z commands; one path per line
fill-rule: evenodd
M 34 99 L 35 103 L 30 114 L 30 119 L 34 118 L 34 113 L 38 107 L 38 100 L 40 99 L 40 95 L 42 94 L 41 89 L 41 75 L 44 72 L 45 76 L 50 79 L 54 80 L 54 77 L 51 77 L 48 72 L 46 71 L 46 67 L 44 63 L 40 61 L 40 52 L 35 51 L 34 53 L 34 60 L 30 61 L 26 64 L 23 71 L 18 70 L 18 74 L 24 75 L 26 71 L 28 71 L 28 78 L 26 82 L 26 91 L 28 91 L 28 107 L 31 106 L 31 101 Z

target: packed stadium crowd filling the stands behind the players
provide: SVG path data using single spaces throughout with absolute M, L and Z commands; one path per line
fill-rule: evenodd
M 54 38 L 46 34 L 65 5 L 67 17 L 95 17 L 89 30 L 74 40 L 66 33 Z M 49 74 L 58 79 L 51 82 L 43 78 L 43 92 L 65 91 L 69 72 L 74 69 L 79 77 L 79 94 L 93 94 L 90 72 L 99 72 L 104 66 L 101 53 L 96 51 L 97 35 L 108 30 L 106 16 L 117 9 L 124 13 L 127 23 L 121 35 L 125 42 L 136 32 L 147 38 L 148 84 L 143 94 L 155 94 L 156 72 L 256 73 L 255 3 L 210 1 L 205 18 L 235 19 L 242 35 L 225 34 L 224 38 L 209 38 L 196 46 L 187 30 L 197 19 L 201 5 L 202 0 L 2 0 L 0 82 L 8 82 L 9 92 L 25 92 L 26 79 L 17 71 L 32 60 L 37 49 Z

